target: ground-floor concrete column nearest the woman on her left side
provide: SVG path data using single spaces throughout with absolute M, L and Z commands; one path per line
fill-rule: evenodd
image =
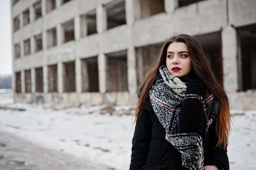
M 129 47 L 127 51 L 128 67 L 128 91 L 130 94 L 130 104 L 137 103 L 137 74 L 136 74 L 136 55 L 135 47 Z

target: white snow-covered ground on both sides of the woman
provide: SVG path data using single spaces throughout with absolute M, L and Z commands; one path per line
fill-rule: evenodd
M 0 92 L 0 131 L 115 170 L 128 169 L 134 106 L 65 109 L 12 102 L 10 94 Z M 232 110 L 232 114 L 235 129 L 232 127 L 228 147 L 230 169 L 256 170 L 256 111 Z

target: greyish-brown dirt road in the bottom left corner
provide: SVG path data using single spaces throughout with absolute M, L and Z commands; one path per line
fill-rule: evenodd
M 0 131 L 0 170 L 114 170 Z

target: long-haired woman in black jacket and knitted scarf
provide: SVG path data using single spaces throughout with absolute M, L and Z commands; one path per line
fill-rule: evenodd
M 135 111 L 130 170 L 229 170 L 229 101 L 195 38 L 169 38 Z

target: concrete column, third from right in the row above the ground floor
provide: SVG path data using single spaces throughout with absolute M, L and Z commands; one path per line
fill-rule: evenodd
M 97 32 L 103 33 L 107 29 L 107 11 L 102 4 L 96 9 Z

